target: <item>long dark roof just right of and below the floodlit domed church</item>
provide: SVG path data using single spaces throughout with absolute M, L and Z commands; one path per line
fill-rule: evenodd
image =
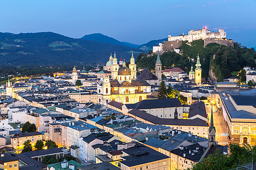
M 154 109 L 154 108 L 168 108 L 168 107 L 181 107 L 179 99 L 155 99 L 155 100 L 142 100 L 135 103 L 134 109 Z

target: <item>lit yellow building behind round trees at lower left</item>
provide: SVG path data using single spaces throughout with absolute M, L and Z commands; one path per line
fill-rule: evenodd
M 35 146 L 36 141 L 42 140 L 43 134 L 38 131 L 33 131 L 29 133 L 20 133 L 20 134 L 13 134 L 10 136 L 11 140 L 11 147 L 14 147 L 16 150 L 23 150 L 24 142 L 30 140 L 32 147 Z

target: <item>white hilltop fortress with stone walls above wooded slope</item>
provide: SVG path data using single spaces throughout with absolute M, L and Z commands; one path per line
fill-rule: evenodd
M 226 32 L 224 29 L 218 29 L 218 32 L 210 32 L 209 29 L 192 29 L 188 32 L 188 35 L 171 36 L 168 35 L 168 41 L 164 43 L 159 43 L 159 45 L 153 46 L 153 52 L 166 52 L 166 51 L 175 51 L 179 53 L 179 48 L 183 41 L 192 42 L 195 40 L 204 40 L 204 47 L 210 43 L 217 43 L 226 46 L 233 46 L 233 40 L 226 39 Z

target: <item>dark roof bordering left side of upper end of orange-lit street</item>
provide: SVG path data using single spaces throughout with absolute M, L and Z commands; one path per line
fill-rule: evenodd
M 197 114 L 207 118 L 207 113 L 203 101 L 195 101 L 195 103 L 191 104 L 191 106 L 189 107 L 188 118 L 196 116 Z

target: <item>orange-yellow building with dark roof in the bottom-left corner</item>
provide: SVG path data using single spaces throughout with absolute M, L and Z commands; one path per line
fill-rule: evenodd
M 9 153 L 1 153 L 0 169 L 19 170 L 19 159 Z

